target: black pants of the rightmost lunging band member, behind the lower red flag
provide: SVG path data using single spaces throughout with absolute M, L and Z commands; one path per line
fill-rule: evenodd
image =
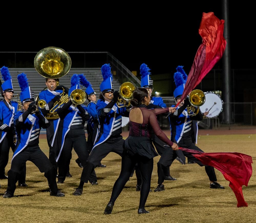
M 183 148 L 187 148 L 187 149 L 191 149 L 191 150 L 197 150 L 197 151 L 202 151 L 200 148 L 198 148 L 193 142 L 191 137 L 182 137 L 178 143 L 179 147 L 183 147 Z M 200 166 L 205 166 L 205 171 L 207 176 L 209 177 L 210 181 L 217 181 L 216 178 L 216 174 L 214 171 L 214 168 L 212 166 L 206 166 L 204 164 L 202 164 L 197 158 L 195 158 L 193 155 L 182 151 L 184 156 L 186 156 L 187 158 L 193 160 L 194 162 L 196 162 L 198 165 Z M 177 157 L 177 155 L 175 153 L 173 153 L 173 151 L 170 150 L 166 150 L 165 153 L 163 154 L 163 156 L 161 156 L 161 158 L 159 159 L 157 166 L 158 165 L 171 165 L 173 160 Z M 161 181 L 164 182 L 164 176 L 163 174 L 161 175 L 161 172 L 158 173 L 158 182 L 160 182 L 159 184 L 161 184 Z

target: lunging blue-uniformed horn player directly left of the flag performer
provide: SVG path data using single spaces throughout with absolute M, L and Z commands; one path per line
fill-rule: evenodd
M 103 81 L 100 84 L 100 100 L 96 104 L 98 116 L 100 118 L 100 135 L 94 144 L 90 156 L 83 168 L 79 187 L 73 195 L 81 195 L 84 183 L 88 182 L 89 176 L 95 167 L 100 165 L 101 160 L 110 152 L 115 152 L 122 156 L 123 137 L 122 116 L 128 117 L 130 109 L 118 108 L 119 92 L 114 91 L 110 64 L 101 67 Z

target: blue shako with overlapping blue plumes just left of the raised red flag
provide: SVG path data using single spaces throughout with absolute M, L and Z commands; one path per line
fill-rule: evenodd
M 175 99 L 182 96 L 188 78 L 186 72 L 183 70 L 183 66 L 178 66 L 176 70 L 177 72 L 174 73 L 176 89 L 173 92 L 173 96 Z

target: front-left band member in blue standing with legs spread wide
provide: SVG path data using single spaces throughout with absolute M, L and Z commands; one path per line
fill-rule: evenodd
M 34 163 L 40 172 L 45 173 L 44 175 L 50 187 L 50 195 L 63 197 L 65 194 L 58 191 L 57 188 L 54 167 L 38 145 L 41 127 L 47 128 L 50 124 L 42 113 L 36 109 L 35 96 L 28 86 L 25 73 L 19 74 L 17 78 L 21 89 L 20 101 L 24 111 L 18 111 L 14 116 L 18 143 L 13 154 L 11 169 L 8 171 L 7 191 L 3 197 L 13 197 L 17 176 L 25 166 L 27 160 Z

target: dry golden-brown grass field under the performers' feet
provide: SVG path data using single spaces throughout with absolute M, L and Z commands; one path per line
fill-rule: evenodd
M 176 181 L 165 181 L 165 191 L 151 192 L 146 202 L 150 214 L 138 215 L 139 192 L 135 191 L 136 177 L 127 182 L 115 202 L 111 215 L 103 215 L 113 184 L 121 168 L 121 157 L 114 153 L 106 156 L 102 163 L 106 168 L 96 168 L 98 186 L 85 184 L 82 196 L 73 196 L 79 184 L 82 169 L 77 166 L 77 155 L 73 152 L 70 163 L 72 178 L 58 185 L 65 197 L 50 197 L 47 180 L 36 166 L 27 162 L 27 188 L 17 187 L 15 197 L 4 199 L 7 180 L 1 180 L 0 222 L 255 222 L 256 216 L 256 135 L 201 135 L 198 146 L 205 152 L 241 152 L 252 156 L 253 175 L 248 187 L 243 187 L 248 207 L 237 208 L 229 182 L 216 170 L 218 182 L 225 190 L 209 189 L 209 180 L 204 167 L 197 164 L 181 165 L 176 160 L 170 168 Z M 40 147 L 48 154 L 46 139 Z M 12 153 L 10 153 L 11 159 Z M 157 186 L 156 163 L 152 173 L 151 189 Z M 6 174 L 10 162 L 6 167 Z

